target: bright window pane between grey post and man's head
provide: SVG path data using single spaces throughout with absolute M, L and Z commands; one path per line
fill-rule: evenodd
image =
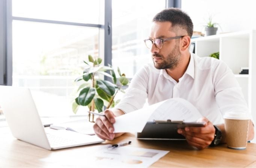
M 112 0 L 112 64 L 127 77 L 151 63 L 151 53 L 144 44 L 148 38 L 152 19 L 165 9 L 166 0 Z

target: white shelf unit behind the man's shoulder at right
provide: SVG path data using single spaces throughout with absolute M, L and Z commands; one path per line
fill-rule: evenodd
M 195 53 L 200 57 L 220 52 L 220 60 L 235 74 L 256 122 L 256 30 L 199 37 L 191 42 L 195 43 Z M 239 74 L 241 67 L 248 67 L 249 74 Z

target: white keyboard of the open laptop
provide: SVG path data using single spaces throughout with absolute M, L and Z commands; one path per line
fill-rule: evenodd
M 74 139 L 63 138 L 61 136 L 57 136 L 49 133 L 47 133 L 46 135 L 51 147 L 79 144 L 79 141 L 76 141 Z

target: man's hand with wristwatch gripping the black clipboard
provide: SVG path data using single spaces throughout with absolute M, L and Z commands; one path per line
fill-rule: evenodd
M 185 127 L 185 129 L 178 129 L 178 133 L 185 136 L 187 142 L 199 149 L 208 147 L 214 139 L 215 128 L 213 124 L 205 117 L 198 120 L 204 121 L 205 125 L 200 127 Z

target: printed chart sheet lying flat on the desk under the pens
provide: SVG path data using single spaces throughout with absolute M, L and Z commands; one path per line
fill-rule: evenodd
M 108 145 L 94 145 L 91 147 L 76 148 L 68 153 L 52 152 L 50 157 L 39 159 L 51 163 L 52 167 L 86 167 L 86 168 L 143 168 L 149 167 L 165 156 L 169 151 L 131 147 L 129 145 L 113 149 Z M 74 156 L 71 158 L 71 156 Z M 71 161 L 72 160 L 72 161 Z

